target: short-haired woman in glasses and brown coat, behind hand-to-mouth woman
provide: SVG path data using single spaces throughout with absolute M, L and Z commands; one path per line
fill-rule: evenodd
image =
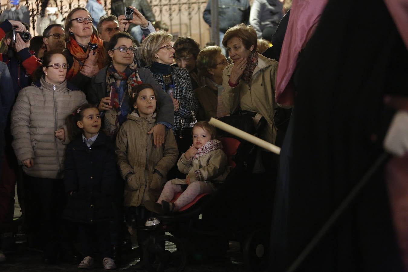
M 228 64 L 220 46 L 208 46 L 198 54 L 198 73 L 205 77 L 205 85 L 194 90 L 198 100 L 198 120 L 208 121 L 211 117 L 227 115 L 222 105 L 222 72 Z

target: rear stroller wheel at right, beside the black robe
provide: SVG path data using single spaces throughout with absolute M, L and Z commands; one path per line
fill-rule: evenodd
M 248 269 L 259 271 L 267 266 L 269 234 L 257 229 L 248 234 L 243 243 L 243 257 Z

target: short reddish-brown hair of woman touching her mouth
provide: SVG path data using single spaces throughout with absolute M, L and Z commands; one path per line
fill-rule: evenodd
M 254 46 L 253 50 L 256 50 L 258 36 L 256 35 L 255 29 L 251 25 L 247 26 L 246 24 L 237 24 L 236 26 L 229 28 L 224 34 L 222 45 L 227 47 L 228 40 L 234 37 L 242 40 L 242 43 L 245 45 L 246 49 Z

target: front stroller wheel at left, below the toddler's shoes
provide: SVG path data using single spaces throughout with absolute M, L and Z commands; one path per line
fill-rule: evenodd
M 150 272 L 179 272 L 186 266 L 184 245 L 170 235 L 160 235 L 149 241 L 144 252 L 145 265 Z

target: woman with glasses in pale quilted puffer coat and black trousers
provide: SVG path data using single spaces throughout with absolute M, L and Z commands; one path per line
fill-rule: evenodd
M 11 113 L 12 145 L 25 173 L 28 238 L 44 241 L 45 263 L 55 262 L 59 253 L 65 118 L 86 103 L 84 93 L 65 80 L 67 68 L 64 55 L 46 53 L 37 82 L 18 93 Z

